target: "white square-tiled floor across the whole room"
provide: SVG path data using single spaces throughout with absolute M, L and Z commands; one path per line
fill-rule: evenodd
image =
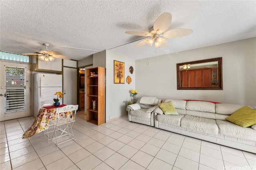
M 1 170 L 256 170 L 256 154 L 129 122 L 127 116 L 97 126 L 80 111 L 76 140 L 59 148 L 42 133 L 21 138 L 33 121 L 0 122 Z

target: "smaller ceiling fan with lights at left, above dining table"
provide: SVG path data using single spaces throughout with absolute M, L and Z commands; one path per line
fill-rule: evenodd
M 40 59 L 42 61 L 45 61 L 45 62 L 54 61 L 54 57 L 59 58 L 59 59 L 70 60 L 69 57 L 66 57 L 66 56 L 62 55 L 62 53 L 60 53 L 58 51 L 49 50 L 48 46 L 50 44 L 44 43 L 43 45 L 45 45 L 45 49 L 40 49 L 40 51 L 31 49 L 31 50 L 34 50 L 34 51 L 38 52 L 39 54 L 37 54 L 37 53 L 24 53 L 22 55 L 38 55 L 38 59 Z M 22 46 L 19 46 L 19 47 L 22 47 Z M 27 47 L 23 47 L 23 48 L 30 49 L 30 48 L 27 48 Z

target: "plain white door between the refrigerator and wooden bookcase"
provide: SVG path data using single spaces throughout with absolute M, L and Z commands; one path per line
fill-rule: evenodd
M 63 67 L 63 104 L 76 105 L 77 103 L 77 69 Z

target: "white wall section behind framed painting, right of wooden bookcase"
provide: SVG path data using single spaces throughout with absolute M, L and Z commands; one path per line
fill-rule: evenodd
M 124 84 L 114 84 L 114 60 L 124 63 Z M 134 68 L 133 74 L 129 68 Z M 135 61 L 128 57 L 118 55 L 111 51 L 106 51 L 106 121 L 112 118 L 126 115 L 126 101 L 131 100 L 130 91 L 135 89 Z M 132 78 L 132 82 L 126 82 L 127 76 Z

